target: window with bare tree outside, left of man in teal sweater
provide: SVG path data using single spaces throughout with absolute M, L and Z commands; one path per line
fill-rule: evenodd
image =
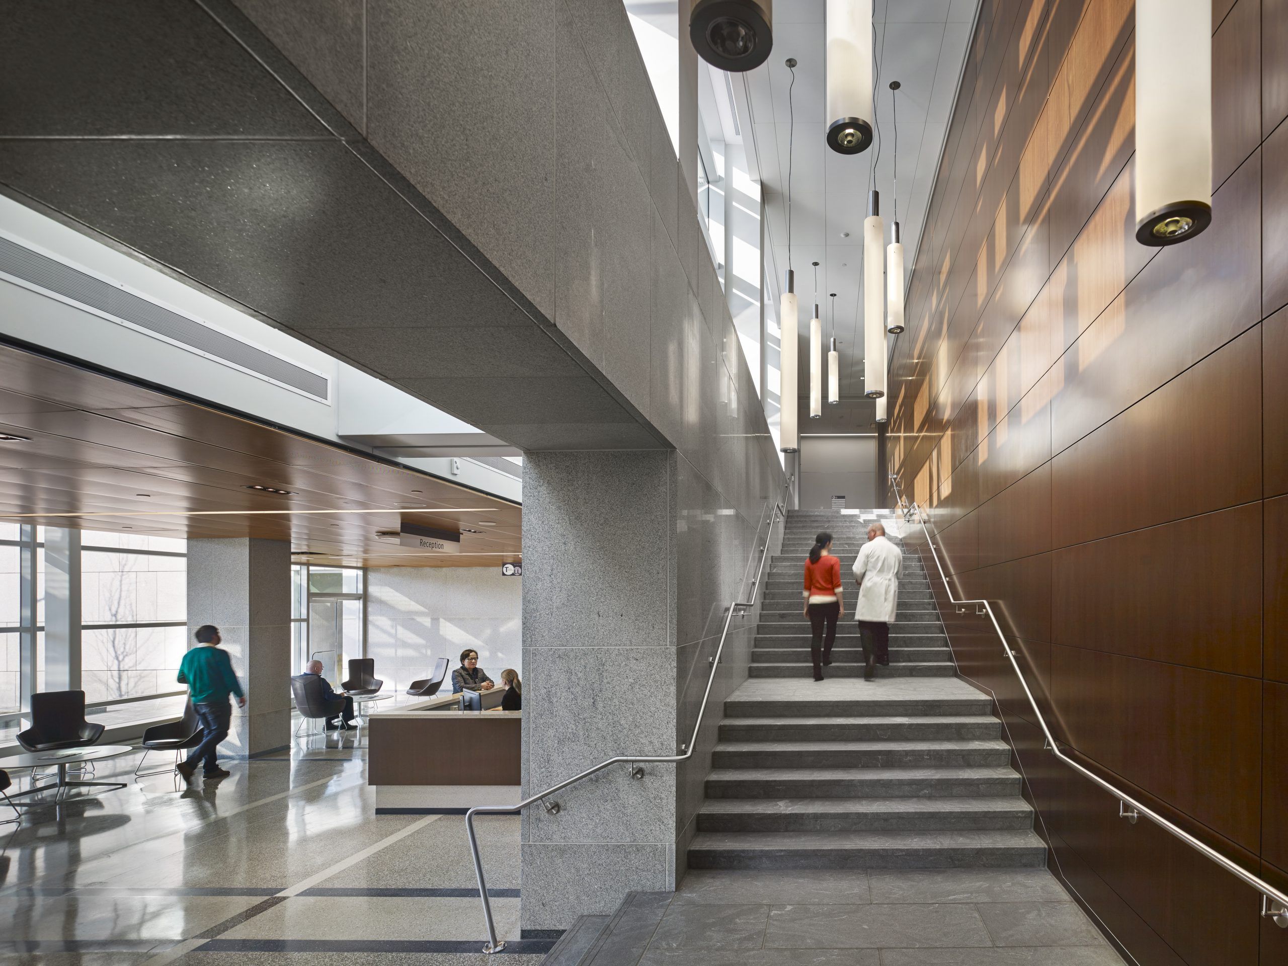
M 86 702 L 179 690 L 187 650 L 183 540 L 81 533 L 81 688 Z

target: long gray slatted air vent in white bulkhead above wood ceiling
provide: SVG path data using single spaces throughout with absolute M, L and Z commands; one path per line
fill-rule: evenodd
M 158 305 L 121 285 L 33 251 L 4 234 L 0 234 L 0 278 L 276 383 L 283 389 L 328 402 L 330 380 L 322 374 L 229 335 L 209 322 Z

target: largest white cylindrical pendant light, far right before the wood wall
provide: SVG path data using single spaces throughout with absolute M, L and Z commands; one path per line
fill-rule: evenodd
M 1136 0 L 1136 241 L 1212 223 L 1212 3 Z

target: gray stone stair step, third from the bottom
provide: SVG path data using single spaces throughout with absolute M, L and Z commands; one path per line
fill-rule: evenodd
M 707 775 L 707 799 L 953 799 L 1020 793 L 1009 766 L 730 768 Z

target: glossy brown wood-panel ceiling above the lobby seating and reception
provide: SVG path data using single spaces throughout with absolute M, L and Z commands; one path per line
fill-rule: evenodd
M 17 348 L 0 346 L 0 424 L 31 437 L 0 443 L 0 519 L 289 540 L 299 559 L 346 565 L 522 556 L 522 507 L 506 500 Z M 377 536 L 402 522 L 460 529 L 462 553 Z

